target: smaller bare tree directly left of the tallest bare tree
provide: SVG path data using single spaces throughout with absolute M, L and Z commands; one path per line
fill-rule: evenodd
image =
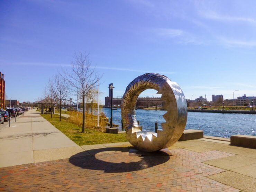
M 68 95 L 68 83 L 60 75 L 54 77 L 54 97 L 60 104 L 60 121 L 61 121 L 61 104 L 67 98 Z

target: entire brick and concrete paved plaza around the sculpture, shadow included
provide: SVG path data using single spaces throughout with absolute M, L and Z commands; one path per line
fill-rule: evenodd
M 0 190 L 254 191 L 255 172 L 236 169 L 255 170 L 255 149 L 206 140 L 177 142 L 173 156 L 129 156 L 121 143 L 84 146 L 86 155 L 1 168 Z

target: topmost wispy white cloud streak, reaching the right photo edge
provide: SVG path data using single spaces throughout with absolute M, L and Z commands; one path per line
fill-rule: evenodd
M 200 12 L 200 15 L 206 19 L 222 21 L 222 22 L 248 22 L 248 23 L 256 24 L 256 20 L 254 18 L 221 15 L 214 11 Z

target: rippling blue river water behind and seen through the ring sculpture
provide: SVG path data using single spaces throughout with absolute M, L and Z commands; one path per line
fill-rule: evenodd
M 101 109 L 110 118 L 110 109 Z M 163 114 L 166 111 L 158 110 L 136 110 L 136 118 L 140 121 L 143 130 L 155 131 L 155 122 L 158 121 L 158 129 L 161 122 L 165 122 Z M 121 110 L 113 110 L 113 123 L 119 125 L 121 130 Z M 256 136 L 256 115 L 233 114 L 233 113 L 205 113 L 188 112 L 188 120 L 185 129 L 199 129 L 204 135 L 226 137 L 231 135 L 253 135 Z

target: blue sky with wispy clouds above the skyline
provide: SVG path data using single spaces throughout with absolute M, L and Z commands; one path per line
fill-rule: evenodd
M 0 71 L 8 97 L 35 101 L 48 78 L 89 52 L 122 96 L 158 72 L 187 99 L 256 96 L 256 1 L 0 1 Z M 148 90 L 141 96 L 158 96 Z M 74 97 L 75 98 L 75 97 Z

